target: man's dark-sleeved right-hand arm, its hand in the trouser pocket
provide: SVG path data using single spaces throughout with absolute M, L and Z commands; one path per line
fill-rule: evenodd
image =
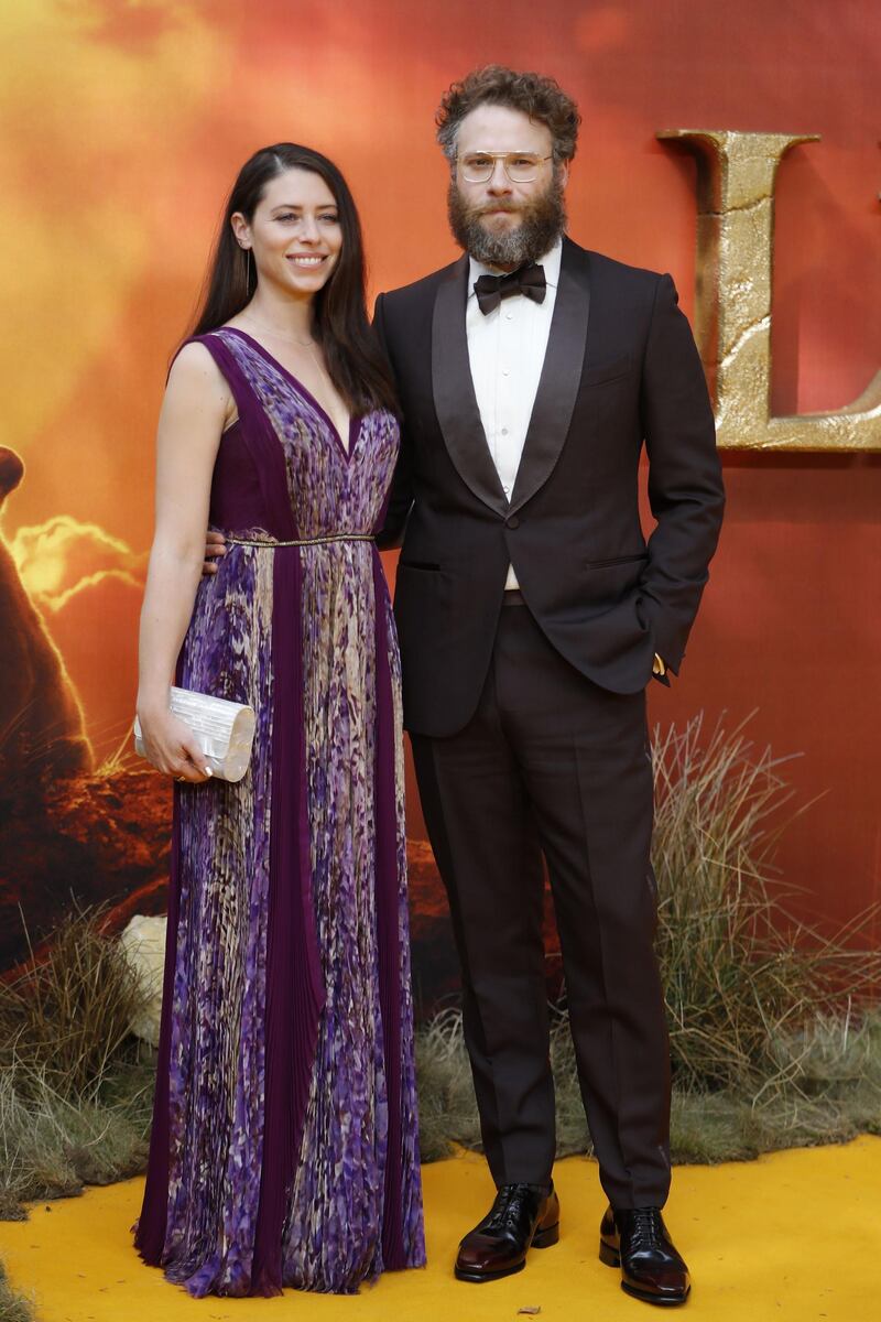
M 641 412 L 656 527 L 641 607 L 658 656 L 678 673 L 716 550 L 725 492 L 713 411 L 691 327 L 662 275 L 646 341 Z

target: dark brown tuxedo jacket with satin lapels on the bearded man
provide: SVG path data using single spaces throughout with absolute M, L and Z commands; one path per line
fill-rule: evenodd
M 404 722 L 461 730 L 477 706 L 507 566 L 546 637 L 613 693 L 676 672 L 716 549 L 713 415 L 668 275 L 564 241 L 551 334 L 509 502 L 465 336 L 468 258 L 383 293 L 375 325 L 402 403 L 380 547 L 400 543 Z M 642 446 L 655 527 L 638 509 Z

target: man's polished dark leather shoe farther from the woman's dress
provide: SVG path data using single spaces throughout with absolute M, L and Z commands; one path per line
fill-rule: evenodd
M 600 1225 L 600 1261 L 621 1268 L 621 1289 L 646 1303 L 684 1303 L 688 1268 L 667 1233 L 659 1207 L 606 1208 Z

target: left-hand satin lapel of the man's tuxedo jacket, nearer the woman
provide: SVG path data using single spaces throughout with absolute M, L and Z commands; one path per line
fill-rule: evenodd
M 486 444 L 465 333 L 469 263 L 464 256 L 435 297 L 432 321 L 432 390 L 444 443 L 456 469 L 485 505 L 507 514 L 509 504 Z

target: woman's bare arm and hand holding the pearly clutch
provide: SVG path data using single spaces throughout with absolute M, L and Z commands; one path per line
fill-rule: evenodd
M 211 473 L 230 387 L 209 350 L 188 344 L 168 378 L 156 440 L 156 531 L 141 607 L 137 715 L 149 760 L 185 780 L 210 772 L 192 731 L 168 710 L 168 690 L 202 570 Z

